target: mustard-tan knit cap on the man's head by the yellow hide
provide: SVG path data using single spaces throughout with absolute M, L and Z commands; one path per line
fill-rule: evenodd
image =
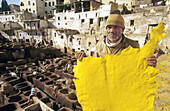
M 106 26 L 108 25 L 117 25 L 125 28 L 124 19 L 120 14 L 110 14 L 106 21 Z

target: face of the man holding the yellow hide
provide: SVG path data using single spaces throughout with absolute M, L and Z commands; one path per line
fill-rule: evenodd
M 107 29 L 108 38 L 112 43 L 117 42 L 121 38 L 122 33 L 124 31 L 123 28 L 116 25 L 108 25 L 106 29 Z

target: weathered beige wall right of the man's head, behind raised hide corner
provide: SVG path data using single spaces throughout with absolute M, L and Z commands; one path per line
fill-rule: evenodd
M 162 39 L 159 45 L 163 51 L 166 50 L 166 46 L 170 48 L 170 22 L 169 22 L 169 6 L 160 6 L 160 7 L 150 7 L 144 9 L 137 9 L 134 14 L 123 15 L 125 19 L 125 35 L 129 38 L 139 41 L 140 46 L 144 44 L 144 40 L 147 34 L 148 24 L 158 24 L 165 23 L 165 33 L 166 37 Z M 130 26 L 131 21 L 134 21 L 134 25 Z

